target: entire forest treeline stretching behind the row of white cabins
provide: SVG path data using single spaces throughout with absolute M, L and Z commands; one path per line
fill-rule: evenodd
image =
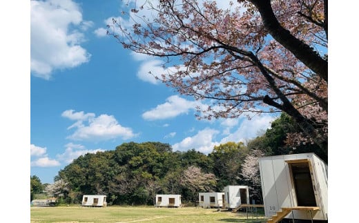
M 173 151 L 162 142 L 128 142 L 113 151 L 87 153 L 59 171 L 54 184 L 41 184 L 31 176 L 35 194 L 58 197 L 59 203 L 79 204 L 84 194 L 107 195 L 108 204 L 155 204 L 156 194 L 182 195 L 182 203 L 195 204 L 200 192 L 220 192 L 227 185 L 247 185 L 251 200 L 262 204 L 258 157 L 313 152 L 327 162 L 315 144 L 286 146 L 287 133 L 299 128 L 282 114 L 271 128 L 249 142 L 227 142 L 208 155 Z

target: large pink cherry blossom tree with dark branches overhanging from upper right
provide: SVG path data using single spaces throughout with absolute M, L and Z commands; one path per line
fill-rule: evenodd
M 206 0 L 128 6 L 108 24 L 108 35 L 162 58 L 166 72 L 152 75 L 178 93 L 207 99 L 200 119 L 284 112 L 302 130 L 288 142 L 316 143 L 327 153 L 327 0 L 238 0 L 227 9 Z

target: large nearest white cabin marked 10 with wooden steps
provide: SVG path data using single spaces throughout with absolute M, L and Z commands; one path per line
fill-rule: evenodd
M 275 155 L 259 164 L 266 217 L 328 220 L 328 166 L 322 159 L 314 153 Z

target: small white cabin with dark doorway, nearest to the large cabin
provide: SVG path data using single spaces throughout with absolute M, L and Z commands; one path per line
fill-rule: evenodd
M 249 187 L 229 185 L 224 187 L 224 207 L 237 209 L 241 204 L 249 204 Z

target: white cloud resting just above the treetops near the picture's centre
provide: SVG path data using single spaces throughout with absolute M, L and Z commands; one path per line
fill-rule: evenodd
M 196 135 L 192 137 L 186 137 L 181 142 L 172 146 L 173 151 L 188 151 L 195 148 L 196 151 L 208 154 L 213 151 L 213 147 L 218 145 L 218 142 L 213 142 L 215 135 L 219 133 L 218 130 L 205 128 L 200 130 Z

